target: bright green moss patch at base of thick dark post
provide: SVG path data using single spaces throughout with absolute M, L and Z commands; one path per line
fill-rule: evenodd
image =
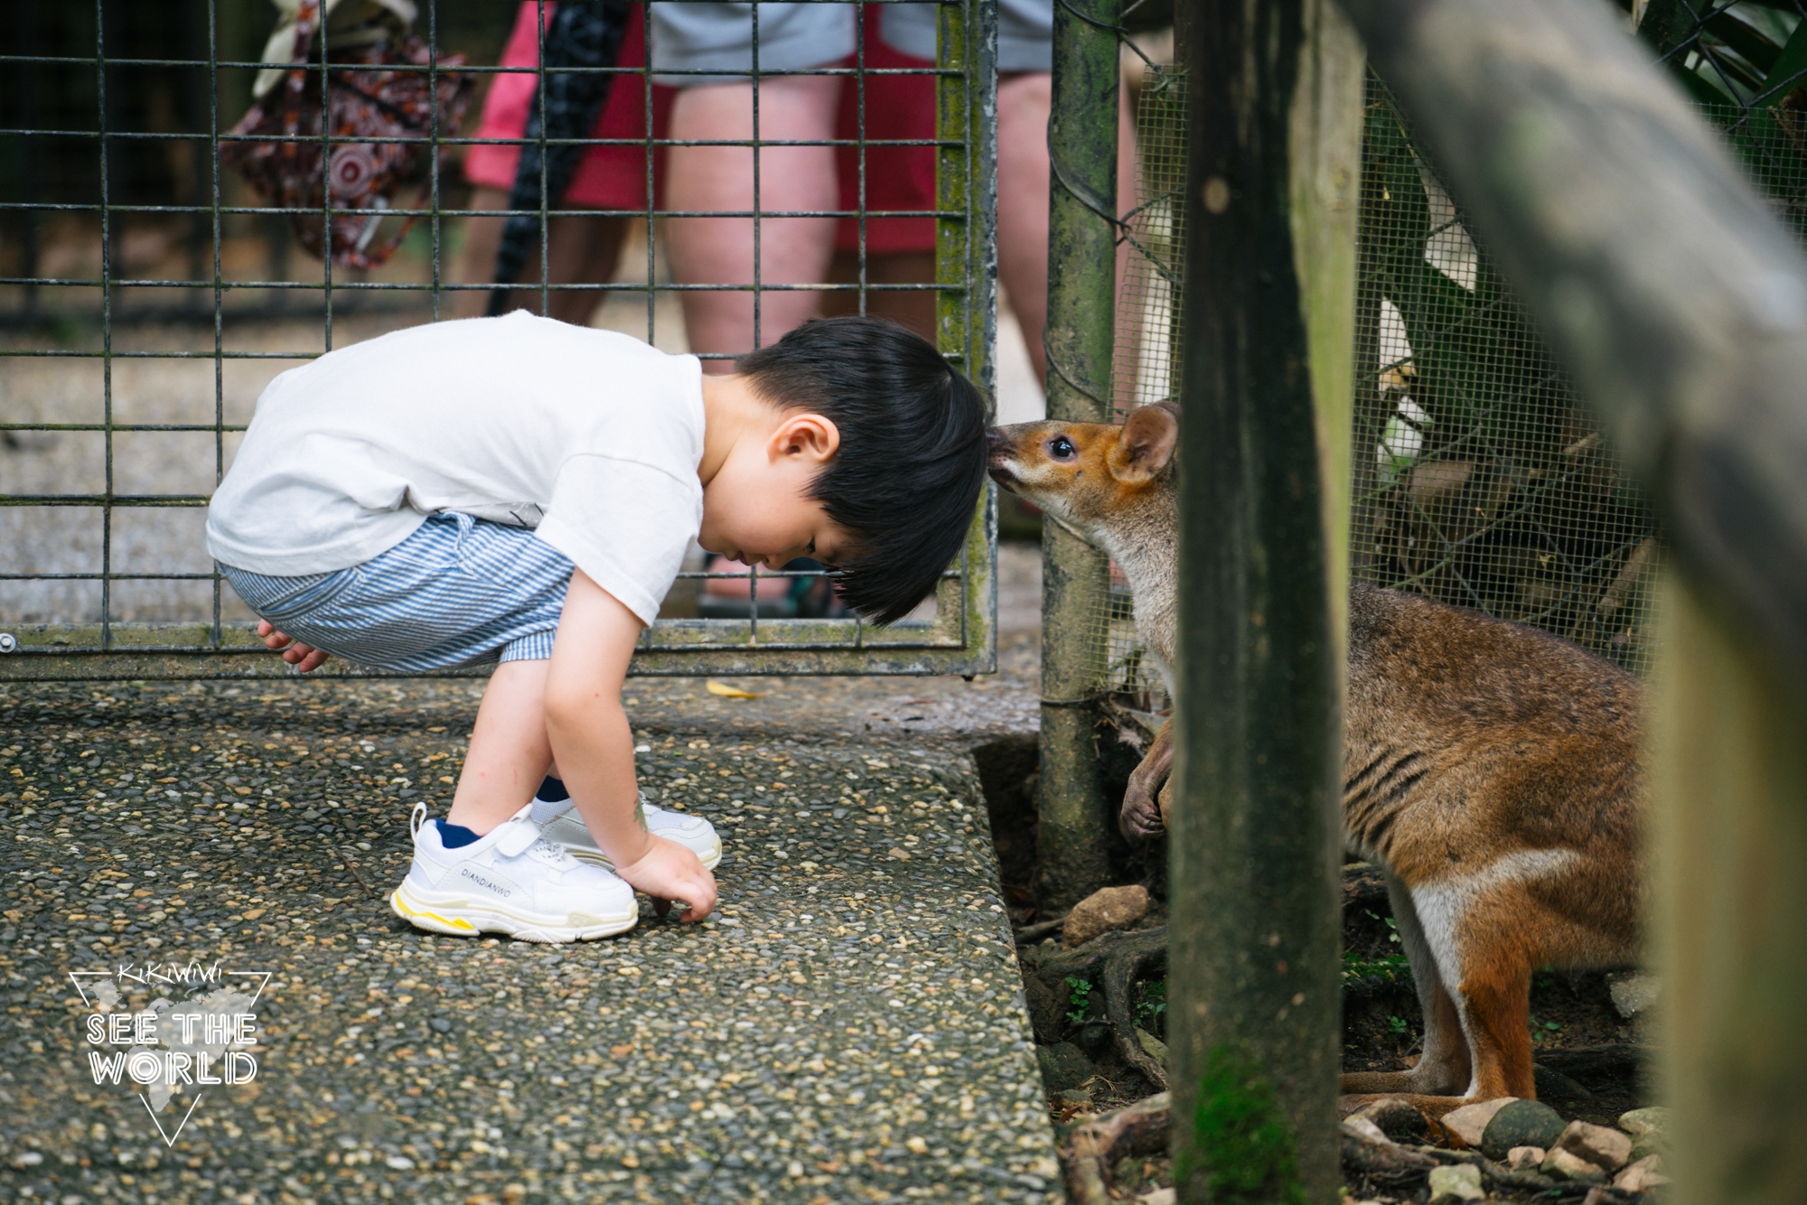
M 1198 1080 L 1191 1158 L 1178 1178 L 1194 1176 L 1212 1205 L 1305 1205 L 1292 1120 L 1261 1064 L 1231 1042 L 1207 1051 Z

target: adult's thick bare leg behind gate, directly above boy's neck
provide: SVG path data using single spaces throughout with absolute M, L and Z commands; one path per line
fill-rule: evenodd
M 829 139 L 840 76 L 777 76 L 759 81 L 759 139 Z M 754 87 L 728 83 L 683 89 L 672 103 L 674 139 L 750 139 Z M 754 152 L 746 146 L 672 146 L 665 175 L 672 210 L 750 211 Z M 840 188 L 833 146 L 764 146 L 759 152 L 759 211 L 833 210 Z M 746 217 L 667 219 L 667 251 L 679 284 L 754 284 L 754 222 Z M 835 219 L 788 217 L 759 222 L 761 284 L 820 284 L 835 251 Z M 683 293 L 692 352 L 741 354 L 754 349 L 752 293 Z M 815 314 L 820 294 L 759 294 L 759 343 Z M 705 372 L 732 372 L 705 360 Z

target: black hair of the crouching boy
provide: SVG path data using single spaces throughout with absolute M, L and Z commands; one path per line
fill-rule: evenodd
M 806 322 L 734 369 L 840 430 L 810 490 L 858 538 L 837 549 L 840 596 L 875 623 L 902 620 L 965 542 L 985 488 L 985 396 L 927 340 L 869 316 Z

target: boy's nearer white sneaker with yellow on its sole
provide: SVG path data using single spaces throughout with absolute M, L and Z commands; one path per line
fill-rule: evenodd
M 585 941 L 640 920 L 634 889 L 540 838 L 531 806 L 468 845 L 446 849 L 426 804 L 414 806 L 414 865 L 389 905 L 416 929 L 506 932 L 524 941 Z

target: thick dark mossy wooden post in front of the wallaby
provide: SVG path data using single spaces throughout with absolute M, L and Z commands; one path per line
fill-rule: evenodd
M 1189 27 L 1175 1174 L 1328 1203 L 1362 60 L 1328 0 Z

